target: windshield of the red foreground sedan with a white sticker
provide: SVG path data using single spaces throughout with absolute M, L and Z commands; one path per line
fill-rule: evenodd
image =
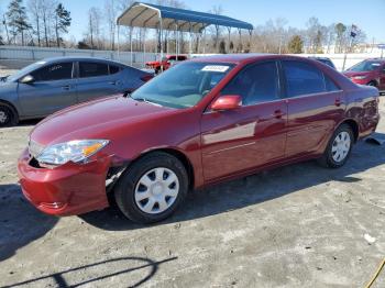
M 132 93 L 139 101 L 172 108 L 197 104 L 233 68 L 232 64 L 182 63 Z

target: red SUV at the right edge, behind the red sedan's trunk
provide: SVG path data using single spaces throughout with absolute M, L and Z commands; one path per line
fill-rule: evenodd
M 355 84 L 374 86 L 380 91 L 385 91 L 385 59 L 360 62 L 343 74 Z

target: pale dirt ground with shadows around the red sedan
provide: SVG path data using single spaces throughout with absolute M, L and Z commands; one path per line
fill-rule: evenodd
M 15 163 L 33 124 L 0 130 L 0 287 L 363 287 L 384 258 L 385 145 L 359 143 L 338 170 L 308 162 L 196 191 L 141 226 L 113 208 L 31 207 Z

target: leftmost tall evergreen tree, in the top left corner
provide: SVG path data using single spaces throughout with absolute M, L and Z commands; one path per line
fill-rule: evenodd
M 21 44 L 24 45 L 24 33 L 26 30 L 31 29 L 28 22 L 28 16 L 25 12 L 25 7 L 23 5 L 23 0 L 12 0 L 8 5 L 8 25 L 10 27 L 10 34 L 15 38 L 18 34 L 21 35 Z

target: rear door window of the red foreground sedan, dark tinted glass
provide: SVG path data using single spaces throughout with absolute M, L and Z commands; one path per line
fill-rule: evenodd
M 296 60 L 284 60 L 287 97 L 326 92 L 322 73 L 315 66 Z

